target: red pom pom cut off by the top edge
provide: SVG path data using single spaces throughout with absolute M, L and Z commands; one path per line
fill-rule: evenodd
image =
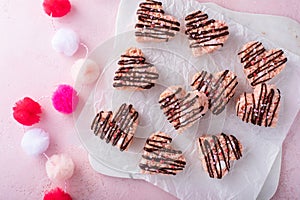
M 62 17 L 71 10 L 69 0 L 44 0 L 43 7 L 47 15 L 52 17 Z

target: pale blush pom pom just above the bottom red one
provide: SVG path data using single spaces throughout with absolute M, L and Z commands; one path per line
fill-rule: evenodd
M 51 180 L 65 181 L 72 177 L 74 163 L 68 155 L 54 154 L 46 162 L 46 172 Z

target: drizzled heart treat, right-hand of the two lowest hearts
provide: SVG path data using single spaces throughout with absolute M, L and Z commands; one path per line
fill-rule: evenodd
M 202 136 L 198 140 L 200 160 L 211 178 L 223 178 L 231 162 L 242 157 L 243 147 L 233 135 Z

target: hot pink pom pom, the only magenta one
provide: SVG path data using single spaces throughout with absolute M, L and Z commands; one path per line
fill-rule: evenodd
M 79 97 L 76 90 L 69 85 L 59 85 L 52 96 L 54 108 L 65 114 L 74 112 L 77 107 Z

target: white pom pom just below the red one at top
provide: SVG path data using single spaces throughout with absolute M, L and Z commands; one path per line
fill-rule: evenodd
M 73 56 L 79 46 L 79 37 L 71 29 L 61 28 L 52 38 L 52 48 L 66 56 Z

